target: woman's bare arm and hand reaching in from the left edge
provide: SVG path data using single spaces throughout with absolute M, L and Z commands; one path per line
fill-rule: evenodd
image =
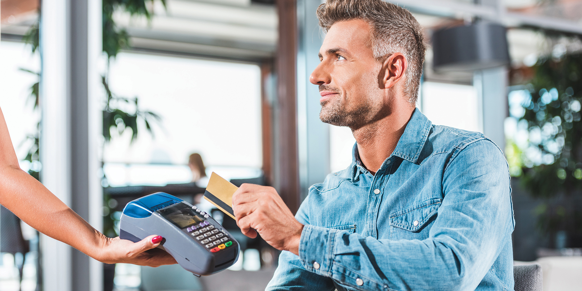
M 152 267 L 176 264 L 174 258 L 164 251 L 154 250 L 151 253 L 144 253 L 145 250 L 158 246 L 161 239 L 157 236 L 148 236 L 137 243 L 119 237 L 115 239 L 106 237 L 40 182 L 22 171 L 2 109 L 0 109 L 0 204 L 39 232 L 70 244 L 95 260 Z M 152 240 L 154 237 L 156 239 Z

